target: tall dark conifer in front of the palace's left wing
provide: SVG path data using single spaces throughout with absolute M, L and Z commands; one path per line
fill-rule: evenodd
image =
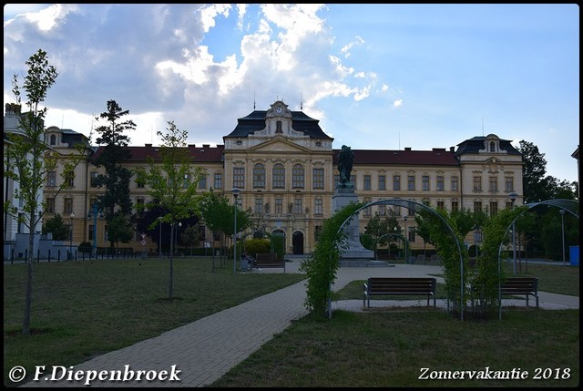
M 112 249 L 117 242 L 129 242 L 133 232 L 132 202 L 129 198 L 129 180 L 132 172 L 122 166 L 131 158 L 128 149 L 129 139 L 124 132 L 136 129 L 136 124 L 132 120 L 121 121 L 121 118 L 128 114 L 129 111 L 120 108 L 115 100 L 108 100 L 107 111 L 96 118 L 108 122 L 107 126 L 103 125 L 96 129 L 100 134 L 97 144 L 105 144 L 105 148 L 95 162 L 97 167 L 103 166 L 106 170 L 105 175 L 99 174 L 96 178 L 97 187 L 106 188 L 97 202 L 107 221 L 107 239 Z

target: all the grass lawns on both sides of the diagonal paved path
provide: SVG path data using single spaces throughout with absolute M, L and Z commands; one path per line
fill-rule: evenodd
M 212 273 L 209 258 L 175 260 L 175 297 L 169 300 L 167 260 L 35 263 L 35 334 L 24 336 L 26 265 L 5 265 L 5 386 L 15 386 L 7 380 L 14 365 L 77 365 L 304 278 L 234 275 L 232 264 L 217 266 Z M 528 272 L 539 277 L 541 291 L 578 295 L 578 267 L 529 264 Z M 362 283 L 354 286 L 354 298 L 361 299 Z M 444 288 L 438 286 L 438 295 Z M 339 293 L 352 294 L 344 290 Z M 517 307 L 505 310 L 501 321 L 465 322 L 433 307 L 336 310 L 332 319 L 294 322 L 211 386 L 578 386 L 578 330 L 578 310 Z M 420 380 L 423 367 L 521 368 L 529 375 Z M 568 378 L 537 380 L 537 368 L 558 368 Z

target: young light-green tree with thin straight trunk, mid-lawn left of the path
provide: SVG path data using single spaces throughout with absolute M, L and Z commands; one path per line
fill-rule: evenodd
M 189 149 L 187 148 L 188 133 L 179 129 L 174 121 L 168 122 L 166 133 L 157 132 L 162 139 L 157 162 L 148 158 L 149 170 L 138 169 L 138 182 L 148 186 L 148 194 L 153 201 L 147 207 L 159 207 L 165 214 L 162 221 L 169 222 L 170 238 L 174 237 L 176 224 L 197 213 L 200 195 L 197 186 L 202 175 L 199 167 L 192 168 Z M 159 221 L 150 224 L 149 229 L 156 228 Z M 169 299 L 174 295 L 174 249 L 170 241 L 169 257 Z

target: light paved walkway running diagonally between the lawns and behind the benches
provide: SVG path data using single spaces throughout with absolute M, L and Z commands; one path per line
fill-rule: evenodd
M 300 260 L 294 260 L 288 263 L 287 273 L 297 273 L 300 262 Z M 265 270 L 261 273 L 281 272 Z M 342 267 L 337 273 L 333 289 L 337 291 L 346 283 L 366 280 L 371 275 L 421 277 L 437 273 L 441 273 L 440 266 L 396 264 L 394 267 Z M 442 282 L 440 280 L 438 278 L 438 282 Z M 293 320 L 308 314 L 303 305 L 305 298 L 305 282 L 295 283 L 136 345 L 99 355 L 80 365 L 56 368 L 56 370 L 46 366 L 46 372 L 37 376 L 39 381 L 31 381 L 23 386 L 84 386 L 84 383 L 90 386 L 107 387 L 208 386 L 226 374 L 231 367 L 258 350 L 274 334 L 281 333 Z M 540 307 L 545 309 L 579 307 L 578 297 L 555 293 L 540 292 L 539 302 Z M 445 306 L 444 301 L 439 301 L 439 303 L 440 306 Z M 417 304 L 426 305 L 426 300 L 407 302 L 375 300 L 371 302 L 371 306 Z M 511 303 L 506 303 L 505 300 L 505 305 L 508 304 Z M 518 305 L 525 305 L 525 303 L 521 301 Z M 335 309 L 363 311 L 363 301 L 333 302 L 332 310 Z M 56 371 L 55 376 L 53 376 L 53 371 Z M 87 376 L 97 376 L 100 371 L 107 371 L 107 374 L 111 371 L 119 371 L 119 376 L 122 378 L 126 376 L 133 380 L 87 382 Z M 139 381 L 136 380 L 138 371 L 145 371 L 141 374 L 142 378 Z M 151 371 L 156 371 L 156 373 Z M 154 374 L 163 377 L 162 381 L 145 379 Z M 62 378 L 62 380 L 52 381 L 51 376 Z M 67 380 L 67 378 L 74 379 L 75 376 L 83 377 L 80 377 L 80 381 Z M 178 376 L 179 381 L 169 381 L 173 376 Z

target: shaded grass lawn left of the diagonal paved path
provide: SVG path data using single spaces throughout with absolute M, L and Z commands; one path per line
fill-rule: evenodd
M 4 379 L 14 365 L 77 365 L 133 345 L 305 278 L 292 273 L 237 273 L 232 262 L 168 260 L 34 263 L 31 328 L 22 334 L 26 264 L 4 266 Z

